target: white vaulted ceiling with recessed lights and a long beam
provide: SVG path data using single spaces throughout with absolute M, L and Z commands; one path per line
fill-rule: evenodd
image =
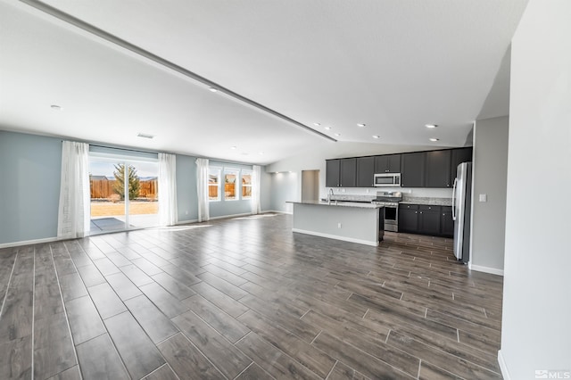
M 464 145 L 526 3 L 45 2 L 339 141 L 438 146 Z M 0 129 L 260 164 L 335 144 L 24 2 L 0 0 L 0 56 Z

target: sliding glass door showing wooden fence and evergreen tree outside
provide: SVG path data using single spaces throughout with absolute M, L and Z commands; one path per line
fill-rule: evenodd
M 159 224 L 158 163 L 91 157 L 90 234 Z

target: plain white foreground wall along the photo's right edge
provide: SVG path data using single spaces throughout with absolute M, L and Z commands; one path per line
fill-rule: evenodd
M 570 21 L 571 1 L 531 0 L 512 41 L 499 358 L 515 380 L 571 371 Z

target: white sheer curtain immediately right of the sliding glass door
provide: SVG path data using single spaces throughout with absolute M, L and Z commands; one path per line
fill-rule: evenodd
M 173 226 L 177 221 L 177 156 L 159 153 L 159 226 Z

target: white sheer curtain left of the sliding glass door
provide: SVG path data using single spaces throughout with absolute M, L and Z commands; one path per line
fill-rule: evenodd
M 89 232 L 89 145 L 62 141 L 62 179 L 57 237 L 72 239 Z

